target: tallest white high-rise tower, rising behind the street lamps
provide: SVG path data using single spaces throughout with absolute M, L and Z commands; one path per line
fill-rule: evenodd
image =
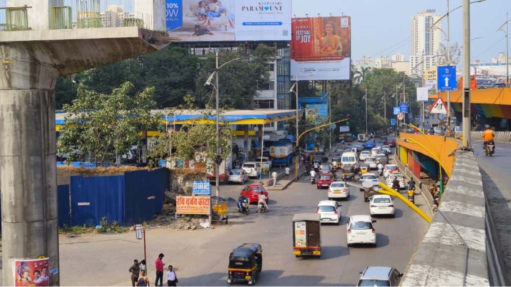
M 439 44 L 442 41 L 442 22 L 434 9 L 423 10 L 412 16 L 412 42 L 410 54 L 410 73 L 422 76 L 426 69 L 436 65 Z M 436 23 L 435 27 L 433 25 Z

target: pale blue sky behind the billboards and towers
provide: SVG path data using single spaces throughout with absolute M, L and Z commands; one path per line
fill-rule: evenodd
M 134 7 L 133 1 L 102 0 L 102 3 Z M 332 13 L 332 16 L 351 16 L 353 60 L 401 53 L 408 61 L 412 16 L 425 9 L 435 9 L 436 13 L 444 15 L 448 1 L 450 10 L 463 4 L 463 0 L 292 0 L 292 15 L 317 17 L 319 13 L 320 17 L 326 17 Z M 506 52 L 505 33 L 497 32 L 497 29 L 506 21 L 511 0 L 483 0 L 470 7 L 471 61 L 490 62 L 492 57 L 498 57 L 498 53 Z M 462 12 L 463 8 L 459 8 L 450 13 L 451 45 L 456 41 L 458 46 L 462 45 Z M 447 33 L 447 17 L 442 22 L 442 30 Z M 446 44 L 444 36 L 443 41 Z

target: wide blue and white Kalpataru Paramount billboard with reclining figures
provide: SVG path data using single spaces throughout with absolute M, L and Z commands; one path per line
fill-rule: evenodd
M 182 42 L 291 39 L 291 0 L 166 0 L 165 9 L 168 36 Z

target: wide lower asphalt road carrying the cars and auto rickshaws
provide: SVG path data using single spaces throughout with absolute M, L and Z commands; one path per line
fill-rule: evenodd
M 241 185 L 222 185 L 221 197 L 237 198 Z M 375 218 L 378 246 L 346 247 L 347 216 L 368 214 L 363 193 L 351 187 L 349 201 L 342 205 L 342 223 L 321 227 L 322 255 L 319 259 L 295 258 L 292 253 L 294 213 L 314 212 L 327 190 L 316 189 L 307 178 L 289 188 L 270 192 L 268 213 L 243 216 L 234 213 L 230 225 L 199 231 L 147 230 L 147 258 L 151 285 L 154 260 L 165 254 L 166 267 L 178 267 L 180 286 L 226 285 L 228 255 L 242 243 L 263 246 L 263 271 L 257 285 L 313 286 L 354 285 L 366 266 L 392 266 L 404 272 L 428 226 L 418 214 L 396 200 L 396 218 Z M 427 204 L 416 196 L 417 205 Z M 234 203 L 233 203 L 234 204 Z M 236 207 L 230 206 L 233 211 Z M 130 285 L 128 268 L 134 258 L 143 258 L 143 242 L 135 233 L 84 235 L 60 239 L 61 285 Z

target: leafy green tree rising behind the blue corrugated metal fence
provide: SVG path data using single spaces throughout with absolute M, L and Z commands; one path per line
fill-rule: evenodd
M 63 106 L 67 115 L 57 141 L 58 153 L 74 154 L 67 162 L 100 162 L 102 166 L 113 162 L 131 145 L 141 143 L 142 131 L 161 130 L 161 114 L 150 112 L 155 108 L 153 92 L 152 88 L 134 92 L 129 82 L 109 94 L 79 88 L 78 98 Z

